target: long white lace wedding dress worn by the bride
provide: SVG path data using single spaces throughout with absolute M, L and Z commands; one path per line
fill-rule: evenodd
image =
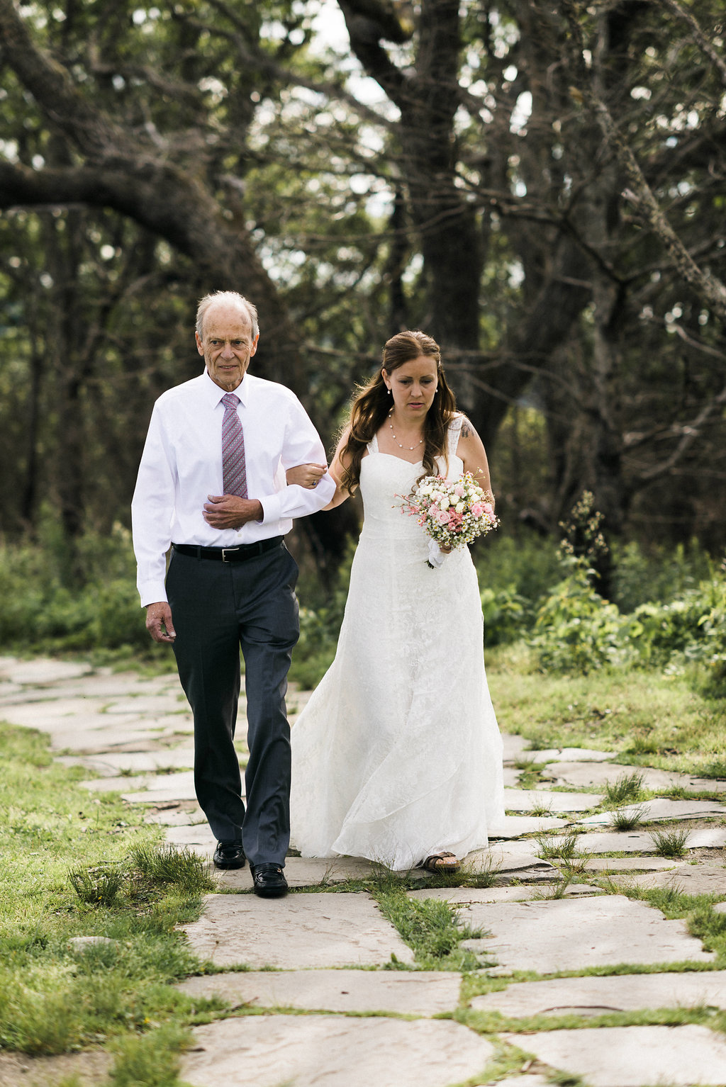
M 449 429 L 450 479 L 463 472 L 461 425 Z M 476 570 L 465 547 L 427 566 L 428 537 L 400 509 L 422 472 L 375 438 L 361 464 L 365 520 L 337 653 L 292 727 L 292 845 L 303 857 L 406 870 L 442 849 L 463 858 L 501 825 Z

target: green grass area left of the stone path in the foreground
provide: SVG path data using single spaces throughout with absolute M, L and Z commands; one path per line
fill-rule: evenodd
M 195 1004 L 172 983 L 202 969 L 174 926 L 198 916 L 209 877 L 184 851 L 157 852 L 158 827 L 128 825 L 140 807 L 89 796 L 46 737 L 0 725 L 0 1047 L 109 1046 L 114 1082 L 173 1084 Z M 74 936 L 110 942 L 75 949 Z

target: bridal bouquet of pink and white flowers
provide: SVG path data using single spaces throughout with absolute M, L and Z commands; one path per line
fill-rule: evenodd
M 443 476 L 425 476 L 403 498 L 401 509 L 416 517 L 435 545 L 429 545 L 429 566 L 441 564 L 438 548 L 463 547 L 499 524 L 491 495 L 479 487 L 471 472 L 451 483 Z

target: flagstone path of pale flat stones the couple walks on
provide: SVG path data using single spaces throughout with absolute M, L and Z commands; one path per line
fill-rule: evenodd
M 306 698 L 291 692 L 292 721 Z M 167 842 L 211 862 L 214 839 L 193 792 L 191 716 L 175 675 L 0 658 L 0 716 L 48 733 L 59 761 L 87 770 L 86 788 L 143 805 Z M 412 901 L 448 902 L 467 926 L 460 946 L 478 967 L 465 984 L 451 970 L 417 970 L 374 894 L 360 882 L 345 889 L 380 876 L 370 862 L 289 857 L 291 892 L 273 901 L 250 894 L 247 867 L 217 873 L 217 892 L 183 938 L 220 973 L 179 988 L 222 999 L 226 1012 L 195 1028 L 186 1083 L 546 1087 L 579 1076 L 584 1087 L 725 1087 L 726 1036 L 705 1020 L 662 1023 L 685 1009 L 726 1011 L 726 971 L 685 921 L 622 891 L 673 887 L 726 910 L 726 780 L 636 769 L 617 752 L 529 750 L 518 736 L 504 737 L 504 751 L 508 815 L 489 849 L 466 859 L 465 885 L 408 891 Z M 541 770 L 536 788 L 522 789 L 527 765 Z M 650 795 L 625 812 L 639 809 L 641 825 L 617 830 L 605 790 L 635 772 Z M 677 800 L 667 798 L 673 789 Z M 700 792 L 710 799 L 684 799 Z M 658 835 L 672 832 L 686 835 L 680 859 L 658 855 Z M 558 860 L 574 833 L 577 855 Z M 429 882 L 418 871 L 400 878 L 409 888 Z M 611 1019 L 600 1025 L 601 1015 Z M 651 1025 L 613 1024 L 613 1015 Z M 108 1063 L 90 1055 L 48 1059 L 43 1073 L 42 1062 L 30 1070 L 5 1054 L 0 1087 L 74 1072 L 105 1084 Z

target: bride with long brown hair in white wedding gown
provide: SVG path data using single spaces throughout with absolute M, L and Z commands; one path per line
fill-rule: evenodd
M 315 486 L 322 470 L 292 468 L 288 482 Z M 490 489 L 438 345 L 399 333 L 330 465 L 327 509 L 360 486 L 364 524 L 335 660 L 292 728 L 291 826 L 303 857 L 455 871 L 504 814 L 476 570 L 465 547 L 431 569 L 428 538 L 401 510 L 422 476 L 463 472 Z

